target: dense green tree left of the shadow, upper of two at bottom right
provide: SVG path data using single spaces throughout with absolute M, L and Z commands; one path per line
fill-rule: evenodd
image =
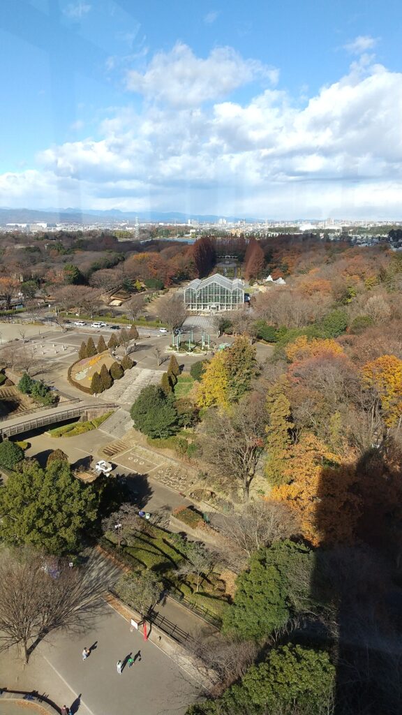
M 247 571 L 237 576 L 232 607 L 223 616 L 224 633 L 260 641 L 310 608 L 314 564 L 313 553 L 293 541 L 278 541 L 254 553 Z M 300 571 L 303 578 L 297 583 L 295 573 Z

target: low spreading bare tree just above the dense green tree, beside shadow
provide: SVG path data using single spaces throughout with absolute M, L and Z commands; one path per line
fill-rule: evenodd
M 240 513 L 216 515 L 212 524 L 241 551 L 251 556 L 261 546 L 299 533 L 298 519 L 280 502 L 258 501 L 248 504 Z

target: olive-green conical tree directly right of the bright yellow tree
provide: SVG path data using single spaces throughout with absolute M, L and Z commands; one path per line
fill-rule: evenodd
M 237 402 L 247 390 L 257 374 L 255 347 L 247 337 L 235 337 L 234 342 L 224 351 L 227 369 L 227 399 Z

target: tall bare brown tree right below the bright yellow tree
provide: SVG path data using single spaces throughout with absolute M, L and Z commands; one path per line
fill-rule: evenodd
M 202 455 L 232 488 L 247 499 L 263 453 L 266 410 L 260 395 L 250 395 L 230 412 L 210 410 L 204 423 Z

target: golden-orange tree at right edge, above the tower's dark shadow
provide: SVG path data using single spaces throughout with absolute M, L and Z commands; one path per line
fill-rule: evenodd
M 384 424 L 396 427 L 402 418 L 402 360 L 381 355 L 363 365 L 363 386 L 373 390 L 381 407 Z

